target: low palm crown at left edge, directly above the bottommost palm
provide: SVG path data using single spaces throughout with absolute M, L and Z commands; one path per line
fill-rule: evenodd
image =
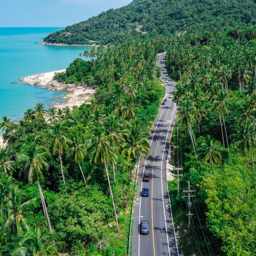
M 33 214 L 28 209 L 35 205 L 36 198 L 28 201 L 26 199 L 27 195 L 19 186 L 12 186 L 8 197 L 0 204 L 0 213 L 5 217 L 0 231 L 5 232 L 6 241 L 13 235 L 12 231 L 19 236 L 24 230 L 28 230 L 26 217 Z

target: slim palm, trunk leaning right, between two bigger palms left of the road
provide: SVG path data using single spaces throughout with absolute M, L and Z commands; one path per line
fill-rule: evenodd
M 83 163 L 84 158 L 87 156 L 86 145 L 82 143 L 81 139 L 78 138 L 78 133 L 76 132 L 76 130 L 70 132 L 68 134 L 68 137 L 71 140 L 71 144 L 70 148 L 68 149 L 66 159 L 72 159 L 74 160 L 75 164 L 78 164 L 84 179 L 85 187 L 87 188 L 84 172 L 80 165 L 80 162 Z

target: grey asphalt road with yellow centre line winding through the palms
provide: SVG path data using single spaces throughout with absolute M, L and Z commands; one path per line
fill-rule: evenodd
M 165 71 L 164 56 L 164 53 L 158 55 L 157 65 L 163 68 L 161 80 L 166 84 L 167 101 L 165 105 L 161 105 L 149 137 L 150 154 L 140 164 L 133 215 L 132 256 L 179 255 L 166 183 L 166 159 L 176 116 L 176 103 L 172 102 L 169 95 L 172 95 L 175 83 Z M 149 182 L 142 181 L 146 174 L 150 176 Z M 145 187 L 150 188 L 149 197 L 140 196 Z M 141 215 L 143 218 L 136 218 Z M 141 220 L 150 222 L 148 235 L 140 234 Z

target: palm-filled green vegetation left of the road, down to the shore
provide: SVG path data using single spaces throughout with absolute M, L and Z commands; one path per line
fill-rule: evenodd
M 124 252 L 132 169 L 149 152 L 164 86 L 151 41 L 90 54 L 91 61 L 78 58 L 56 77 L 97 85 L 95 97 L 72 109 L 38 103 L 19 124 L 2 117 L 0 255 Z

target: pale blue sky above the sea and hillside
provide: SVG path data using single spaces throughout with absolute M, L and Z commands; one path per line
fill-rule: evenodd
M 0 0 L 0 27 L 66 27 L 132 0 Z

